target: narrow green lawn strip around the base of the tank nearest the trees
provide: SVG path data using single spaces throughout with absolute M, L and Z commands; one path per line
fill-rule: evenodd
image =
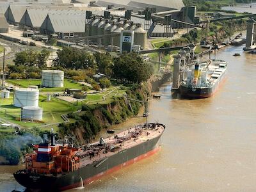
M 16 86 L 20 86 L 20 87 L 28 87 L 29 85 L 37 85 L 38 87 L 40 87 L 41 84 L 41 79 L 8 79 L 6 80 L 8 83 L 11 83 L 13 85 Z M 82 85 L 76 82 L 72 82 L 68 79 L 64 80 L 64 86 L 59 88 L 42 88 L 40 89 L 40 92 L 64 92 L 66 88 L 77 88 L 77 89 L 81 89 Z

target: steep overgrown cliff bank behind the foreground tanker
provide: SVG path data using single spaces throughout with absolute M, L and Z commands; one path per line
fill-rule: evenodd
M 123 88 L 126 93 L 124 97 L 115 98 L 109 104 L 84 104 L 81 113 L 69 113 L 68 117 L 73 118 L 74 122 L 60 125 L 60 137 L 73 135 L 75 142 L 81 145 L 91 141 L 102 129 L 120 124 L 127 118 L 138 115 L 143 103 L 127 98 L 143 101 L 150 95 L 150 84 L 133 84 Z

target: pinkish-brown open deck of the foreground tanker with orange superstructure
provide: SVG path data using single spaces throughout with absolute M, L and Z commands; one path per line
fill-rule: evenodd
M 127 148 L 132 148 L 132 147 L 139 145 L 140 143 L 143 143 L 147 140 L 152 140 L 153 138 L 157 138 L 158 136 L 161 136 L 161 134 L 164 131 L 164 126 L 160 125 L 160 124 L 156 124 L 156 125 L 157 125 L 157 127 L 155 129 L 143 128 L 143 125 L 132 127 L 123 132 L 115 134 L 114 136 L 104 139 L 104 141 L 107 145 L 109 144 L 109 145 L 113 145 L 114 147 L 120 147 L 120 148 L 118 148 L 118 150 L 116 150 L 115 152 L 109 151 L 107 153 L 104 153 L 104 150 L 100 150 L 99 155 L 97 155 L 97 156 L 81 158 L 80 166 L 83 167 L 88 164 L 92 164 L 95 161 L 104 160 L 110 156 L 113 156 L 114 154 L 117 154 L 118 152 L 120 152 L 122 150 L 125 150 Z M 136 138 L 136 140 L 134 140 L 134 138 L 131 138 L 130 140 L 126 140 L 122 143 L 116 143 L 116 136 L 118 136 L 118 137 L 127 136 L 127 135 L 131 134 L 131 132 L 138 131 L 138 129 L 141 130 L 141 134 L 138 135 L 138 138 Z M 96 142 L 96 143 L 92 143 L 91 145 L 97 146 L 98 144 L 99 144 L 99 142 Z M 79 153 L 78 153 L 78 155 L 79 155 Z

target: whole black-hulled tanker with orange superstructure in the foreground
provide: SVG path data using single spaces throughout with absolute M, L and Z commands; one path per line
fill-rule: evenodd
M 42 141 L 26 155 L 26 167 L 14 177 L 27 189 L 65 191 L 81 188 L 103 175 L 136 163 L 161 147 L 163 124 L 143 124 L 98 142 L 74 148 L 68 144 Z

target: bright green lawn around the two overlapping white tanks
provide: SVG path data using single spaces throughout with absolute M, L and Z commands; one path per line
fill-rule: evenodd
M 69 104 L 68 102 L 52 98 L 50 102 L 46 101 L 46 96 L 40 95 L 39 106 L 43 108 L 43 122 L 44 123 L 33 123 L 33 122 L 19 122 L 16 118 L 20 117 L 20 108 L 16 108 L 12 105 L 13 95 L 10 95 L 10 99 L 0 99 L 0 118 L 13 124 L 21 125 L 22 127 L 35 127 L 42 124 L 53 124 L 57 122 L 63 122 L 61 115 L 76 111 L 77 106 Z M 1 129 L 1 131 L 8 131 Z

